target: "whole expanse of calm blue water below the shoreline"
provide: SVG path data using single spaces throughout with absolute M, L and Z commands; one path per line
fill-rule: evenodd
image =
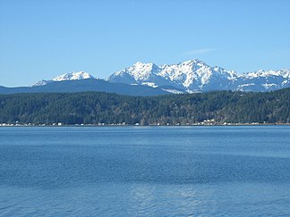
M 0 128 L 1 216 L 290 216 L 290 126 Z

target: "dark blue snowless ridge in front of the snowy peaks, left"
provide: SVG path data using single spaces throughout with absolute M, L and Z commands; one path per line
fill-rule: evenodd
M 166 95 L 168 92 L 161 88 L 148 86 L 127 85 L 121 83 L 109 83 L 103 79 L 78 79 L 64 81 L 50 81 L 43 86 L 4 88 L 0 87 L 0 94 L 15 93 L 72 93 L 98 91 L 129 96 L 157 96 Z

